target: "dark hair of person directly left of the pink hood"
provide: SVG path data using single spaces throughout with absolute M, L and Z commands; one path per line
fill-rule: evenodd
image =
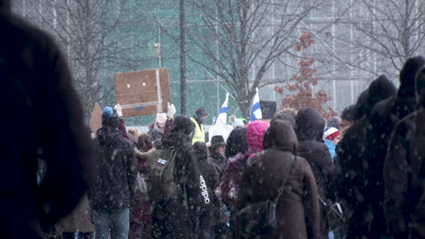
M 248 142 L 246 141 L 246 128 L 233 129 L 226 143 L 224 155 L 231 158 L 238 153 L 244 153 L 248 150 Z

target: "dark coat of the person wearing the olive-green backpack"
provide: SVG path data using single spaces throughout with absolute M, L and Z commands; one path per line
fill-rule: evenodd
M 174 148 L 174 182 L 177 195 L 169 200 L 153 202 L 153 238 L 191 238 L 198 233 L 203 208 L 198 164 L 190 138 L 181 131 L 171 131 L 162 140 L 163 148 Z M 183 190 L 186 190 L 187 197 Z M 187 202 L 188 208 L 184 205 Z

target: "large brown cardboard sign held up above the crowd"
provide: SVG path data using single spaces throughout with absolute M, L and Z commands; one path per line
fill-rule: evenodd
M 168 68 L 115 73 L 115 92 L 123 117 L 164 112 L 171 102 Z

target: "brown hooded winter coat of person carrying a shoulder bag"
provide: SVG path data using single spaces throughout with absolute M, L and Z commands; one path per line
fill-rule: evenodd
M 274 120 L 264 137 L 264 151 L 248 159 L 243 171 L 239 209 L 277 197 L 297 147 L 291 123 Z M 276 207 L 277 227 L 261 238 L 319 238 L 319 215 L 316 181 L 311 167 L 304 158 L 296 157 Z

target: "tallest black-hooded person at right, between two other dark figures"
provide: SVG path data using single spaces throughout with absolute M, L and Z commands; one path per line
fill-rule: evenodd
M 425 65 L 422 56 L 408 59 L 400 71 L 400 88 L 397 94 L 378 103 L 372 110 L 364 146 L 364 160 L 368 162 L 369 191 L 365 200 L 371 202 L 373 220 L 369 238 L 379 238 L 386 231 L 382 211 L 384 199 L 383 164 L 387 154 L 390 135 L 394 126 L 418 108 L 415 95 L 415 74 Z

